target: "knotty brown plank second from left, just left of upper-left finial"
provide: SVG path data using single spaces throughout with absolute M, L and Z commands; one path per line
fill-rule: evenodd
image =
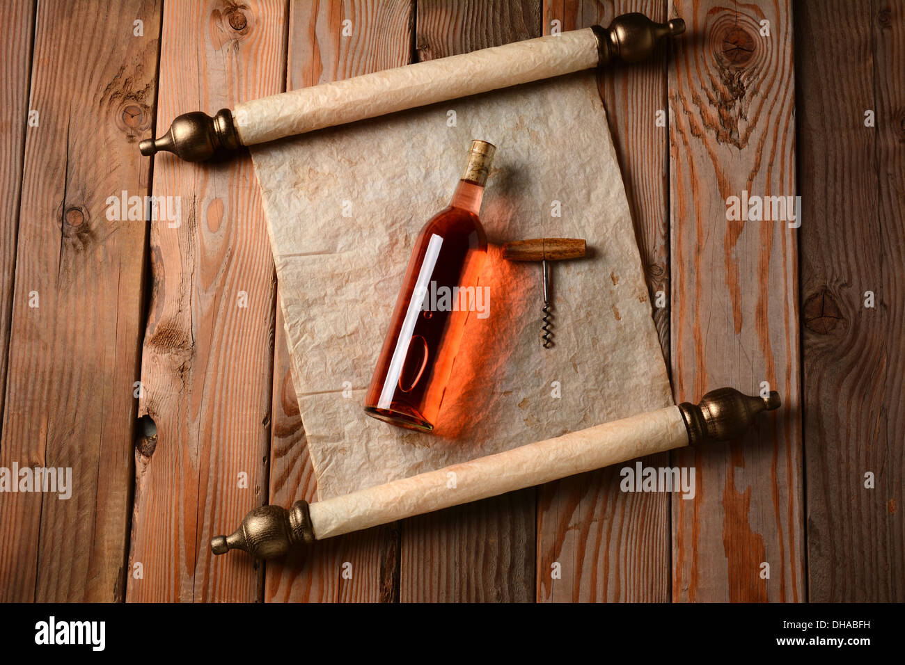
M 37 16 L 0 466 L 71 468 L 72 487 L 0 499 L 5 600 L 122 597 L 146 225 L 110 220 L 107 198 L 148 192 L 159 16 L 139 0 Z

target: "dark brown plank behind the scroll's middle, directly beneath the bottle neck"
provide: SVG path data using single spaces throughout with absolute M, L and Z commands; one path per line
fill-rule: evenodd
M 536 1 L 421 0 L 419 60 L 515 42 L 540 34 Z M 535 489 L 449 508 L 402 526 L 402 601 L 532 602 Z

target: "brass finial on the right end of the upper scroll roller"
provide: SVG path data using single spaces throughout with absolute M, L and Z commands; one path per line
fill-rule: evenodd
M 644 14 L 633 12 L 613 19 L 608 28 L 593 25 L 597 38 L 597 65 L 605 66 L 613 60 L 641 62 L 653 55 L 663 37 L 685 32 L 685 22 L 674 18 L 665 24 L 654 23 Z

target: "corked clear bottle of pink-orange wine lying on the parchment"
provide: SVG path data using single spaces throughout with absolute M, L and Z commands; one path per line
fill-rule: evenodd
M 495 150 L 472 141 L 450 204 L 414 243 L 365 399 L 366 413 L 386 423 L 424 432 L 436 424 L 487 258 L 478 212 Z

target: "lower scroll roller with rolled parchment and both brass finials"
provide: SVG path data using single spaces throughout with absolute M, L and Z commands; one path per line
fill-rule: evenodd
M 704 394 L 700 404 L 638 413 L 310 505 L 296 501 L 290 510 L 254 508 L 231 536 L 212 538 L 211 550 L 215 555 L 243 549 L 253 556 L 282 556 L 291 546 L 315 539 L 498 496 L 689 443 L 729 441 L 759 413 L 780 405 L 775 391 L 753 397 L 734 388 L 719 388 Z

